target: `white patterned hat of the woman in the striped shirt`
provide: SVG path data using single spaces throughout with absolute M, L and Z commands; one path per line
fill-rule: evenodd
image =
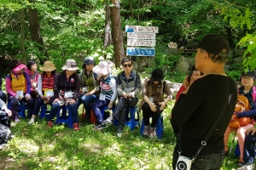
M 113 62 L 109 60 L 100 61 L 98 65 L 96 65 L 92 71 L 99 75 L 108 75 L 113 69 Z

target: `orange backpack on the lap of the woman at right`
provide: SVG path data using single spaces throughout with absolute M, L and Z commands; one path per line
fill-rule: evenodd
M 245 97 L 242 94 L 238 94 L 234 115 L 236 115 L 237 113 L 241 113 L 243 111 L 250 111 L 250 110 L 251 110 L 251 106 L 249 104 L 247 97 Z M 236 118 L 235 120 L 231 120 L 229 126 L 236 127 L 236 128 L 244 127 L 244 126 L 247 126 L 250 122 L 251 122 L 250 117 L 241 117 L 241 118 Z

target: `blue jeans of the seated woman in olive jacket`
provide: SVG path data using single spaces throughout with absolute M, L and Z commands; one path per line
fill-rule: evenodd
M 92 94 L 92 95 L 79 94 L 78 108 L 79 108 L 79 105 L 83 103 L 85 112 L 90 113 L 90 103 L 94 103 L 98 99 L 99 97 L 96 94 Z

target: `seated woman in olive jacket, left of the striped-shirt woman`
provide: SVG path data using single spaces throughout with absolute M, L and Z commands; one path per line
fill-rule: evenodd
M 96 73 L 92 72 L 94 66 L 94 59 L 90 56 L 86 57 L 84 60 L 83 71 L 81 71 L 79 74 L 81 89 L 79 91 L 78 108 L 81 103 L 84 104 L 85 119 L 90 119 L 90 103 L 93 103 L 99 99 L 97 94 L 97 75 Z

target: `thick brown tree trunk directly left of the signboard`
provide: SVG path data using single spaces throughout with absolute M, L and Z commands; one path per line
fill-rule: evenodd
M 121 60 L 124 58 L 123 46 L 123 33 L 121 30 L 121 16 L 120 16 L 120 3 L 119 0 L 112 0 L 113 5 L 110 8 L 110 15 L 112 21 L 112 39 L 113 39 L 113 52 L 114 63 L 116 67 L 121 65 Z

